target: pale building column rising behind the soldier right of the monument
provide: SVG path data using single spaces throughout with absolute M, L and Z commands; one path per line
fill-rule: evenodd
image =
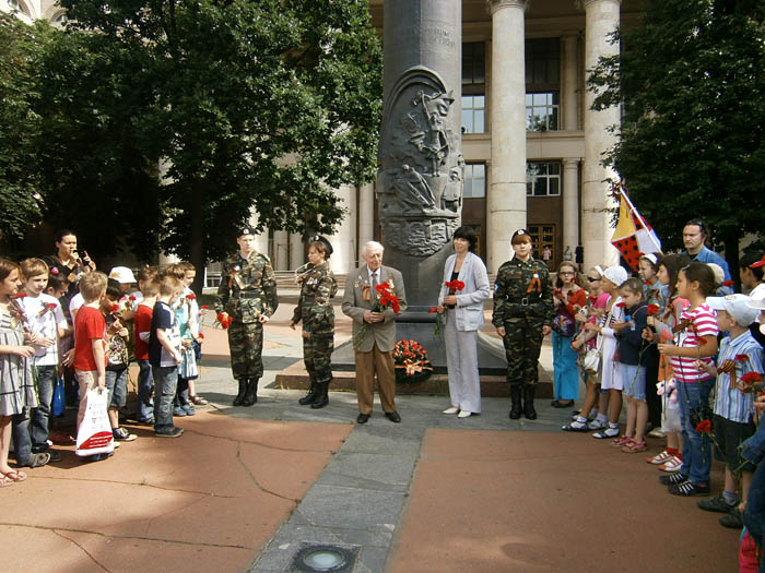
M 526 227 L 525 0 L 489 0 L 492 13 L 492 162 L 486 194 L 489 272 L 509 259 L 510 235 Z

